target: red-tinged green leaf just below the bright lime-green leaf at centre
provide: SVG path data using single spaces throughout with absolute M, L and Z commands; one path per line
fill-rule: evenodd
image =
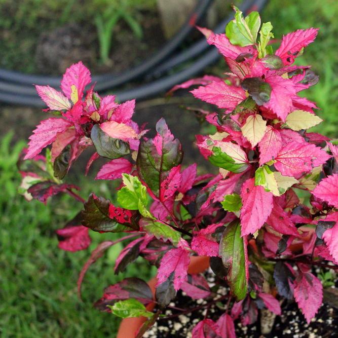
M 181 234 L 167 226 L 167 224 L 155 221 L 149 218 L 141 218 L 140 226 L 151 235 L 154 235 L 157 239 L 162 239 L 163 241 L 170 240 L 172 244 L 177 245 Z

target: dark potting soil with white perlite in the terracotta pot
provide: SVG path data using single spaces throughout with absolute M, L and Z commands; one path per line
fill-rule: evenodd
M 214 283 L 222 283 L 218 278 L 215 279 L 214 274 L 209 270 L 205 273 L 210 286 Z M 338 288 L 338 281 L 336 281 L 335 289 Z M 227 287 L 220 287 L 218 293 L 226 294 Z M 170 306 L 177 308 L 195 308 L 200 305 L 207 304 L 203 299 L 194 301 L 187 297 L 183 292 L 178 291 L 175 303 Z M 144 335 L 144 338 L 171 338 L 192 336 L 194 326 L 201 320 L 211 318 L 216 321 L 224 313 L 225 304 L 217 304 L 179 315 L 179 311 L 171 309 L 166 311 L 166 315 L 173 316 L 168 319 L 159 319 L 157 323 L 150 328 Z M 174 317 L 174 315 L 177 315 Z M 237 337 L 241 338 L 328 338 L 336 337 L 338 332 L 338 309 L 331 307 L 328 304 L 323 304 L 319 309 L 315 318 L 310 324 L 307 324 L 302 312 L 297 308 L 295 303 L 282 304 L 282 316 L 277 316 L 270 334 L 261 334 L 260 332 L 260 312 L 258 311 L 258 319 L 256 323 L 248 326 L 243 326 L 240 320 L 235 321 L 235 329 Z

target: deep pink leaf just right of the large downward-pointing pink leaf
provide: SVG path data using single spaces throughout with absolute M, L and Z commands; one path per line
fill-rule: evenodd
M 291 221 L 288 214 L 281 208 L 277 199 L 274 199 L 274 206 L 267 219 L 267 223 L 281 234 L 293 236 L 299 235 L 297 228 Z

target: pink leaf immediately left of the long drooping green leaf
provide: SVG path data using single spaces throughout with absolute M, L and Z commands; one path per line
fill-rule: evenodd
M 219 244 L 216 239 L 213 238 L 213 234 L 216 229 L 223 224 L 210 224 L 205 229 L 194 232 L 194 237 L 191 243 L 192 249 L 196 251 L 200 256 L 218 256 Z

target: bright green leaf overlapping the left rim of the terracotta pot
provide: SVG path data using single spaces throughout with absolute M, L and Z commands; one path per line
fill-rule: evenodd
M 121 318 L 152 317 L 154 315 L 153 312 L 147 311 L 145 306 L 135 298 L 126 299 L 115 303 L 113 306 L 108 305 L 108 307 L 111 309 L 112 314 Z

